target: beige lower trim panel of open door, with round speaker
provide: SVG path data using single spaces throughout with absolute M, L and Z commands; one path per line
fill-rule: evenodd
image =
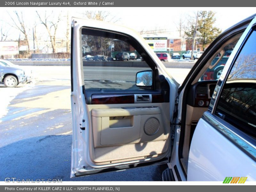
M 90 147 L 95 164 L 120 163 L 147 158 L 161 159 L 167 152 L 170 136 L 168 103 L 87 105 L 92 114 L 93 143 Z M 145 123 L 152 123 L 144 130 Z M 154 124 L 153 124 L 154 125 Z

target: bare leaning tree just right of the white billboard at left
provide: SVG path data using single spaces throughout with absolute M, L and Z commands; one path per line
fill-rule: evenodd
M 28 54 L 30 54 L 30 47 L 29 47 L 29 41 L 28 41 L 29 29 L 25 25 L 22 11 L 21 12 L 14 11 L 14 14 L 16 15 L 17 20 L 15 20 L 14 17 L 12 17 L 9 12 L 8 14 L 11 17 L 11 20 L 13 22 L 11 26 L 19 30 L 21 33 L 23 33 L 27 47 L 28 47 Z

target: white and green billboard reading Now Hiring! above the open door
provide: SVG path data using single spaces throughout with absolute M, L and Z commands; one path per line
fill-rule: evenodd
M 167 37 L 144 37 L 148 45 L 155 51 L 167 51 Z

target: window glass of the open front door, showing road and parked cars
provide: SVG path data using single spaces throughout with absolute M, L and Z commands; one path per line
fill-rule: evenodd
M 85 89 L 140 89 L 137 72 L 151 68 L 145 58 L 130 61 L 130 52 L 140 54 L 130 37 L 84 28 L 81 39 Z

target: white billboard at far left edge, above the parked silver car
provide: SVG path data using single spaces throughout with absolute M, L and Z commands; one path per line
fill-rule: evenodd
M 17 55 L 19 54 L 19 46 L 17 41 L 1 41 L 0 55 Z

